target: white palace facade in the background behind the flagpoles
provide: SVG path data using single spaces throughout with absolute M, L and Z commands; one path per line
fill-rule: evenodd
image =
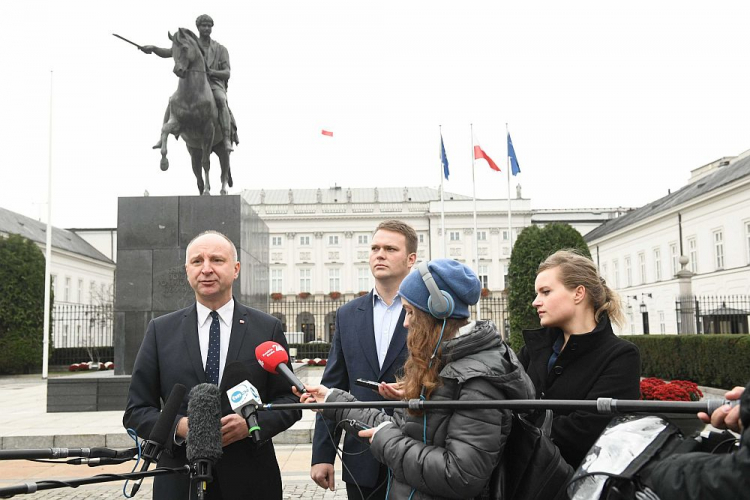
M 419 238 L 418 260 L 453 258 L 478 271 L 485 288 L 505 289 L 511 243 L 531 224 L 567 222 L 585 234 L 624 209 L 531 209 L 528 199 L 476 201 L 427 187 L 246 190 L 242 196 L 269 228 L 270 289 L 357 295 L 373 286 L 370 238 L 386 219 L 410 224 Z M 444 207 L 444 209 L 443 209 Z M 445 232 L 443 232 L 443 210 Z M 476 249 L 476 252 L 475 252 Z M 478 261 L 477 261 L 478 258 Z

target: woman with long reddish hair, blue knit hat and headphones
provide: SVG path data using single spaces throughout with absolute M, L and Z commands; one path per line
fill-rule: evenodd
M 450 259 L 423 262 L 401 283 L 409 358 L 399 380 L 405 400 L 502 400 L 533 397 L 533 386 L 491 321 L 470 321 L 481 285 L 467 266 Z M 351 394 L 307 386 L 301 401 L 355 401 Z M 387 498 L 474 498 L 490 489 L 510 432 L 508 410 L 323 410 L 369 429 L 375 458 L 388 466 Z M 349 432 L 355 429 L 344 427 Z M 495 498 L 500 498 L 495 496 Z

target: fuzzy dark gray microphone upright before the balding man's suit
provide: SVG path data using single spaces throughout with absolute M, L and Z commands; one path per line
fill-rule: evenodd
M 187 459 L 190 479 L 197 480 L 198 499 L 213 480 L 211 467 L 221 458 L 221 393 L 214 384 L 199 384 L 188 402 Z

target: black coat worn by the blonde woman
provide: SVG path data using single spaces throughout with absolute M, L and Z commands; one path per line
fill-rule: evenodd
M 540 399 L 639 399 L 641 357 L 638 348 L 617 337 L 606 315 L 593 331 L 572 335 L 552 370 L 547 361 L 558 328 L 524 330 L 526 345 L 519 359 Z M 552 440 L 574 469 L 611 420 L 609 415 L 558 411 L 552 421 Z

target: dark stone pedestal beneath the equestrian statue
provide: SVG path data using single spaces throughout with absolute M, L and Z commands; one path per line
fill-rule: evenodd
M 268 226 L 240 196 L 120 198 L 115 274 L 115 374 L 132 373 L 148 322 L 192 304 L 185 248 L 206 230 L 234 242 L 234 296 L 268 310 Z

